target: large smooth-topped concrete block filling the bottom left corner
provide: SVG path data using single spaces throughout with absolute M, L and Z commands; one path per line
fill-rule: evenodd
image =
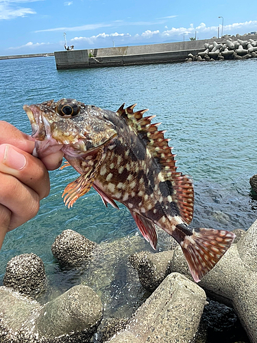
M 84 342 L 95 333 L 103 308 L 93 289 L 74 286 L 45 305 L 0 287 L 0 338 L 5 343 Z

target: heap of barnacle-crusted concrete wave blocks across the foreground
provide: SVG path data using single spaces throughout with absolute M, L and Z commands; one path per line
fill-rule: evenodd
M 197 285 L 181 248 L 160 229 L 167 250 L 156 253 L 144 250 L 138 235 L 98 245 L 64 230 L 51 250 L 64 275 L 79 272 L 79 284 L 41 305 L 38 295 L 48 287 L 42 260 L 33 253 L 13 257 L 0 287 L 0 342 L 206 343 L 210 340 L 205 326 L 212 322 L 208 316 L 217 318 L 217 313 L 223 329 L 224 321 L 230 322 L 234 335 L 238 323 L 232 309 L 213 300 L 207 304 L 208 291 L 234 307 L 249 335 L 249 340 L 245 335 L 240 341 L 255 343 L 257 221 L 246 233 L 241 229 L 234 233 L 232 247 Z M 115 279 L 121 277 L 126 287 L 115 290 Z M 145 293 L 138 292 L 139 282 Z M 204 320 L 206 309 L 214 305 L 216 310 Z

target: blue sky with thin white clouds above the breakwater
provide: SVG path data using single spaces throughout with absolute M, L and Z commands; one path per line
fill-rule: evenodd
M 0 0 L 0 56 L 257 32 L 257 1 Z

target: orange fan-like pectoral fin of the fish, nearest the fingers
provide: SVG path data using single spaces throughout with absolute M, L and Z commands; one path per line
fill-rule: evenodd
M 87 165 L 84 167 L 84 173 L 80 175 L 76 180 L 69 183 L 62 193 L 62 198 L 64 198 L 65 206 L 68 205 L 68 208 L 72 207 L 75 201 L 84 196 L 93 185 L 95 177 L 101 165 L 101 160 L 103 156 L 103 147 L 97 152 L 97 156 L 92 165 Z

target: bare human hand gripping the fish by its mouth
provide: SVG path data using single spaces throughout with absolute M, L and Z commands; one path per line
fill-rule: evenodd
M 32 137 L 0 121 L 0 248 L 5 234 L 38 213 L 48 196 L 48 170 L 60 167 L 62 152 L 42 158 L 32 156 Z

